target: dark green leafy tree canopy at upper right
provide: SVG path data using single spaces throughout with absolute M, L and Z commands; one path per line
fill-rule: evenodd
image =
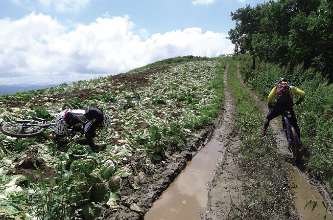
M 280 66 L 333 70 L 333 0 L 278 0 L 231 12 L 235 53 Z M 331 74 L 331 81 L 333 80 Z

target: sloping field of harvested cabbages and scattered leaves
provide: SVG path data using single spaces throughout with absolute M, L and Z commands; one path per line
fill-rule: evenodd
M 59 145 L 0 133 L 0 220 L 118 219 L 125 208 L 143 216 L 146 210 L 134 199 L 143 182 L 158 182 L 159 170 L 189 151 L 190 140 L 217 116 L 224 67 L 219 58 L 189 56 L 0 96 L 1 125 L 31 120 L 34 113 L 54 122 L 64 103 L 95 106 L 113 122 L 97 131 L 99 152 L 82 145 L 79 134 Z

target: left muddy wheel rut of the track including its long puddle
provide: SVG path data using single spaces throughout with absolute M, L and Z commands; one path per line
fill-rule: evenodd
M 191 168 L 190 164 L 200 165 L 200 162 L 197 162 L 197 160 L 200 161 L 199 152 L 189 162 L 187 169 L 170 185 L 168 191 L 154 203 L 144 217 L 145 220 L 222 220 L 226 219 L 230 212 L 230 199 L 240 198 L 241 181 L 239 180 L 237 155 L 239 138 L 234 132 L 235 105 L 233 104 L 232 92 L 226 82 L 227 68 L 223 81 L 225 105 L 222 109 L 223 113 L 215 120 L 210 142 L 214 144 L 214 148 L 211 148 L 209 143 L 207 150 L 206 148 L 201 150 L 203 153 L 208 151 L 206 154 L 215 154 L 214 157 L 210 157 L 211 161 L 205 161 L 211 166 L 211 170 L 206 171 L 210 176 L 205 179 L 200 177 L 200 181 L 190 178 L 191 175 L 200 170 L 199 168 Z M 188 200 L 183 194 L 189 190 L 190 192 L 186 193 L 187 198 L 190 194 L 196 195 L 196 197 L 193 196 L 191 207 L 187 209 L 184 206 Z M 182 202 L 186 202 L 186 204 L 182 204 Z

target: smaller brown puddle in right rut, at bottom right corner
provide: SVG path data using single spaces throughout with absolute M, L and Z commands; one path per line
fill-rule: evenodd
M 309 182 L 308 177 L 300 172 L 297 167 L 292 166 L 291 176 L 293 183 L 296 185 L 292 190 L 294 193 L 294 202 L 296 210 L 300 215 L 300 220 L 323 220 L 326 213 L 326 207 L 323 205 L 324 199 L 316 189 L 316 187 Z M 309 200 L 316 200 L 318 206 L 312 211 L 312 205 L 307 205 Z M 326 220 L 333 220 L 333 217 L 327 213 Z

